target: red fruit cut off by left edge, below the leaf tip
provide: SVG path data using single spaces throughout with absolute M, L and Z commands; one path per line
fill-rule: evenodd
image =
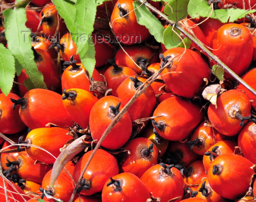
M 13 110 L 10 99 L 19 99 L 20 96 L 10 92 L 7 96 L 0 94 L 0 132 L 14 134 L 26 128 L 19 116 L 19 106 Z

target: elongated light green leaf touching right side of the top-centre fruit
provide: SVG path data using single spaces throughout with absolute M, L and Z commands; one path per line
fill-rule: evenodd
M 155 17 L 145 5 L 141 5 L 138 1 L 133 1 L 133 8 L 135 8 L 134 11 L 138 23 L 146 26 L 151 35 L 155 37 L 155 40 L 163 43 L 163 32 L 165 28 L 157 17 Z

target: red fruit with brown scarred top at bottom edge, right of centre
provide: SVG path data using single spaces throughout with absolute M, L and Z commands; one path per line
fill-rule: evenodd
M 185 184 L 182 174 L 175 167 L 172 167 L 170 174 L 167 174 L 161 165 L 154 165 L 146 170 L 140 179 L 150 194 L 155 198 L 161 198 L 162 202 L 179 197 L 175 200 L 178 202 L 183 198 Z

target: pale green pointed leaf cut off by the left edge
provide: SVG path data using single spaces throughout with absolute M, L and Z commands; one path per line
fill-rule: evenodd
M 4 95 L 12 89 L 15 76 L 15 63 L 12 52 L 0 44 L 0 88 Z

